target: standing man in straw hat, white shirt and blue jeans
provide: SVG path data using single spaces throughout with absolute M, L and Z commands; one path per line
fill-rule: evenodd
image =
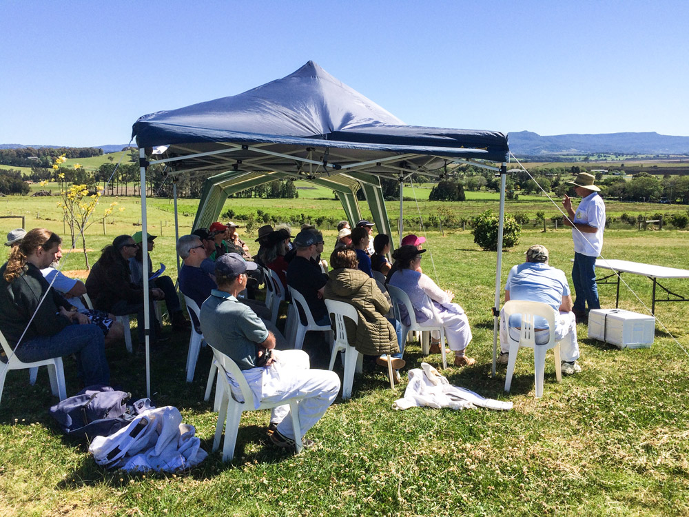
M 574 240 L 574 265 L 572 267 L 572 283 L 577 298 L 572 312 L 577 321 L 586 321 L 588 310 L 600 309 L 598 288 L 596 287 L 596 258 L 603 248 L 603 230 L 605 228 L 605 203 L 599 196 L 600 189 L 593 184 L 594 176 L 580 172 L 575 181 L 568 183 L 575 185 L 577 196 L 582 198 L 577 210 L 572 208 L 572 200 L 565 194 L 562 205 L 568 217 L 563 223 L 572 227 Z

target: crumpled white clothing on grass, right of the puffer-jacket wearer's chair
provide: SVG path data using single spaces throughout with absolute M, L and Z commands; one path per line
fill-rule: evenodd
M 409 409 L 410 407 L 434 407 L 435 409 L 486 407 L 502 411 L 512 409 L 511 402 L 484 398 L 469 389 L 451 385 L 437 369 L 428 363 L 421 363 L 421 368 L 411 369 L 407 375 L 409 384 L 404 390 L 404 397 L 398 398 L 393 403 L 393 409 Z

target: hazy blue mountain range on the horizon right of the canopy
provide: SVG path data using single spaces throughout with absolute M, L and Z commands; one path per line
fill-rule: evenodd
M 515 156 L 563 154 L 689 154 L 689 136 L 648 133 L 555 134 L 531 131 L 509 134 Z

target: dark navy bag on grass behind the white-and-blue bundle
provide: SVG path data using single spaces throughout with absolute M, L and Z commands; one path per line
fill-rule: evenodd
M 127 413 L 131 393 L 118 392 L 110 386 L 85 387 L 73 397 L 50 408 L 50 414 L 69 436 L 109 436 L 134 418 Z

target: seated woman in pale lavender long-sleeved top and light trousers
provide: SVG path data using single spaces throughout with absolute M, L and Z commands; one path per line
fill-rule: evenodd
M 469 320 L 462 307 L 452 303 L 455 297 L 452 292 L 443 291 L 431 278 L 418 271 L 424 252 L 426 250 L 419 250 L 412 245 L 395 250 L 395 270 L 389 277 L 389 284 L 399 287 L 409 295 L 416 321 L 420 325 L 435 318 L 442 323 L 447 345 L 455 352 L 455 366 L 473 365 L 475 359 L 465 354 L 466 345 L 471 341 Z M 404 307 L 400 307 L 400 313 L 403 313 L 400 314 L 402 319 L 409 318 Z M 440 347 L 438 350 L 440 351 Z

